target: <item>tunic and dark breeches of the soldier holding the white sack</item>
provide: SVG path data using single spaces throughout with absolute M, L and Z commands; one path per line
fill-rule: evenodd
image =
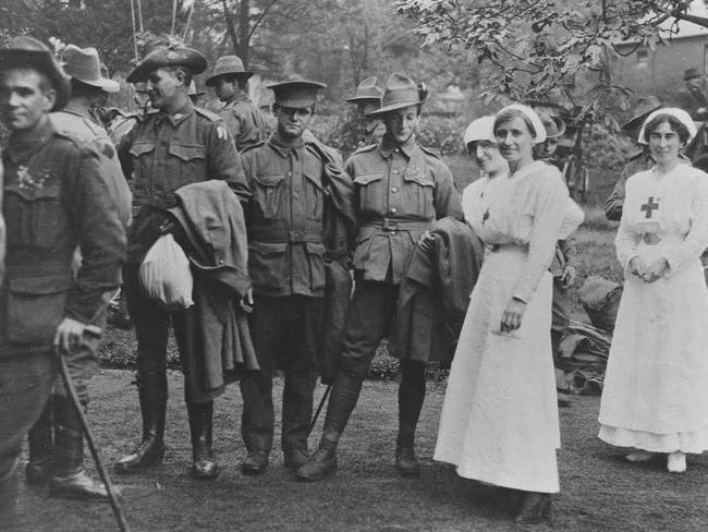
M 125 176 L 132 176 L 134 221 L 129 231 L 124 289 L 138 339 L 138 375 L 166 371 L 169 313 L 147 298 L 138 281 L 138 267 L 154 239 L 143 239 L 141 228 L 158 219 L 156 210 L 175 205 L 174 192 L 190 183 L 227 181 L 241 201 L 249 196 L 241 158 L 231 134 L 216 114 L 187 101 L 174 114 L 156 112 L 138 121 L 123 137 L 119 157 Z M 198 311 L 198 310 L 197 310 Z M 187 341 L 185 323 L 194 307 L 173 312 L 179 344 Z M 185 374 L 185 379 L 193 378 Z

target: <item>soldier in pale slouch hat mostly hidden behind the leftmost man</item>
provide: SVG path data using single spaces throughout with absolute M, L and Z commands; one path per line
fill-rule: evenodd
M 64 72 L 71 78 L 71 98 L 62 110 L 51 113 L 51 123 L 58 132 L 96 148 L 108 178 L 109 193 L 118 206 L 119 218 L 125 230 L 131 221 L 131 192 L 121 171 L 115 146 L 106 130 L 91 120 L 90 113 L 91 106 L 105 100 L 102 95 L 117 92 L 119 84 L 101 75 L 95 48 L 81 49 L 69 45 L 64 49 L 63 60 Z M 81 254 L 77 254 L 76 263 L 81 264 Z M 107 295 L 110 297 L 110 293 Z M 100 329 L 106 326 L 106 309 L 101 310 L 91 324 Z M 84 407 L 87 407 L 89 401 L 87 380 L 94 375 L 98 364 L 97 347 L 98 339 L 88 338 L 66 354 L 66 362 Z M 108 497 L 105 486 L 84 471 L 80 420 L 61 380 L 54 384 L 51 400 L 47 402 L 39 421 L 29 432 L 28 444 L 29 460 L 26 474 L 29 485 L 44 484 L 53 475 L 49 486 L 49 495 L 52 497 Z M 68 477 L 66 471 L 74 474 Z

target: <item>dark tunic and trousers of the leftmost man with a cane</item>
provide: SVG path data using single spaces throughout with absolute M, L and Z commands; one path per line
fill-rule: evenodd
M 51 124 L 2 154 L 7 275 L 0 288 L 0 477 L 15 464 L 53 382 L 64 317 L 90 324 L 118 286 L 125 233 L 98 154 Z M 83 265 L 74 276 L 72 258 Z M 0 501 L 1 504 L 2 501 Z

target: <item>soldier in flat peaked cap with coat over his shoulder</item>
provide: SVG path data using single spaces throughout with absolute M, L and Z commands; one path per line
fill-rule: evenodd
M 276 95 L 278 129 L 242 153 L 253 191 L 246 208 L 253 301 L 246 304 L 253 309 L 249 326 L 260 366 L 241 379 L 242 434 L 248 451 L 241 469 L 246 474 L 261 474 L 268 467 L 276 368 L 285 373 L 281 438 L 285 464 L 296 470 L 307 459 L 315 367 L 325 337 L 326 191 L 338 191 L 338 201 L 354 222 L 349 177 L 343 171 L 339 177 L 326 173 L 324 153 L 331 154 L 332 148 L 303 138 L 317 92 L 325 85 L 297 80 L 269 88 Z

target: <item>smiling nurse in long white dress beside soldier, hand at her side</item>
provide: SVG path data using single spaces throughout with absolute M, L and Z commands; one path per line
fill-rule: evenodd
M 509 172 L 486 169 L 479 157 L 487 176 L 463 196 L 487 252 L 452 362 L 435 459 L 455 464 L 461 476 L 523 491 L 516 520 L 537 522 L 559 491 L 548 267 L 569 196 L 560 171 L 533 158 L 546 136 L 535 111 L 509 106 L 493 128 Z M 474 144 L 479 152 L 481 142 Z

